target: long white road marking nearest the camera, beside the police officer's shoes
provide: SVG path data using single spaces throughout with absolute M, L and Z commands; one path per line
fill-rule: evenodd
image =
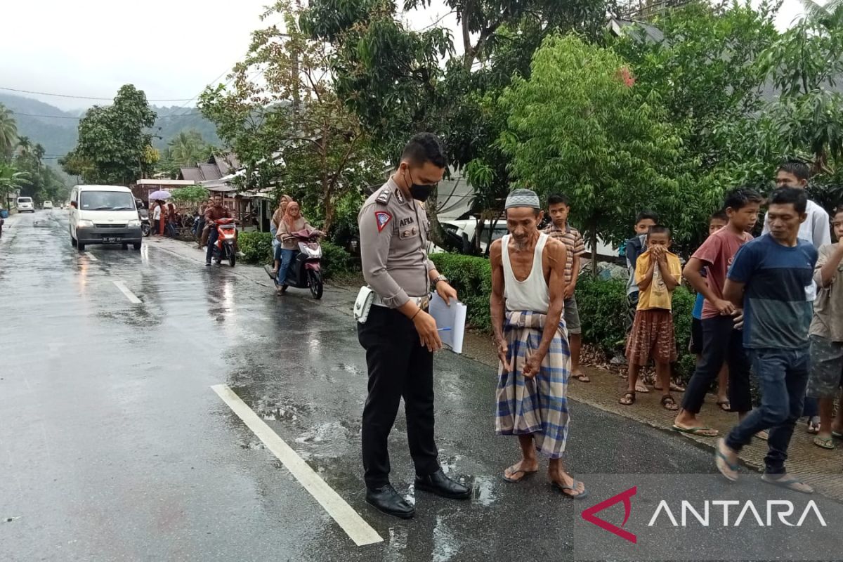
M 302 484 L 304 490 L 308 490 L 314 500 L 325 508 L 328 515 L 342 527 L 342 530 L 354 541 L 357 546 L 383 542 L 383 538 L 369 524 L 343 500 L 341 495 L 325 483 L 325 480 L 316 474 L 303 458 L 293 451 L 284 440 L 266 425 L 264 420 L 255 414 L 240 397 L 234 393 L 228 385 L 216 384 L 211 387 L 219 395 L 223 402 L 228 404 L 234 414 L 243 420 L 249 429 L 266 445 L 272 454 L 280 460 L 287 470 Z

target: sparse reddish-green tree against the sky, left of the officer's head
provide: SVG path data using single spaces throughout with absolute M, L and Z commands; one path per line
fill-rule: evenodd
M 208 88 L 199 107 L 244 164 L 244 188 L 274 185 L 329 230 L 338 203 L 379 181 L 384 161 L 331 88 L 325 43 L 303 34 L 299 12 L 276 3 L 265 17 L 280 13 L 283 31 L 255 31 L 233 88 Z M 260 82 L 251 79 L 258 72 Z

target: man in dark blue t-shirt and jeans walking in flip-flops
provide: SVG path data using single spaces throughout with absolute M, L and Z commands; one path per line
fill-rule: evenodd
M 808 484 L 788 477 L 785 470 L 810 368 L 810 293 L 817 250 L 797 238 L 807 205 L 804 190 L 774 191 L 767 218 L 770 233 L 744 244 L 729 270 L 723 297 L 743 308 L 744 348 L 758 377 L 761 407 L 752 410 L 725 440 L 718 440 L 716 462 L 723 476 L 738 479 L 738 452 L 756 433 L 770 430 L 761 479 L 810 494 L 813 489 Z

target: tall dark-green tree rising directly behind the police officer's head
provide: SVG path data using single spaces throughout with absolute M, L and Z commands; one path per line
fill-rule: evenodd
M 404 8 L 429 4 L 405 0 Z M 497 148 L 502 120 L 494 100 L 513 74 L 529 75 L 530 57 L 556 29 L 598 38 L 604 0 L 447 0 L 461 25 L 463 54 L 448 29 L 407 29 L 391 0 L 311 0 L 303 28 L 330 42 L 336 92 L 359 116 L 392 163 L 417 131 L 443 136 L 448 160 L 474 186 L 477 211 L 499 209 L 509 178 Z M 443 62 L 444 59 L 444 62 Z M 435 201 L 435 194 L 433 201 Z M 428 205 L 432 239 L 443 244 L 437 208 Z

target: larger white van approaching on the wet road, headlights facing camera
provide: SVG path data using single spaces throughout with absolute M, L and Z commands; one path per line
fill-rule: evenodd
M 141 249 L 135 196 L 122 185 L 77 185 L 70 192 L 70 244 L 132 244 Z

